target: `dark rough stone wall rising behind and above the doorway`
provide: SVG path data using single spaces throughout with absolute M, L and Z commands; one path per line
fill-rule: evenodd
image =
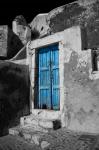
M 60 6 L 47 15 L 37 15 L 30 25 L 34 34 L 34 29 L 37 30 L 38 37 L 78 25 L 83 31 L 83 49 L 96 48 L 99 46 L 99 0 L 78 0 Z

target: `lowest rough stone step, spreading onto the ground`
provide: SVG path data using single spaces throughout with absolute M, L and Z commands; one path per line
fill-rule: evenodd
M 14 128 L 9 129 L 9 134 L 14 136 L 20 136 L 24 138 L 26 141 L 30 143 L 34 143 L 36 145 L 40 144 L 40 139 L 42 136 L 48 133 L 48 130 L 45 130 L 40 127 L 33 127 L 33 126 L 17 126 Z

